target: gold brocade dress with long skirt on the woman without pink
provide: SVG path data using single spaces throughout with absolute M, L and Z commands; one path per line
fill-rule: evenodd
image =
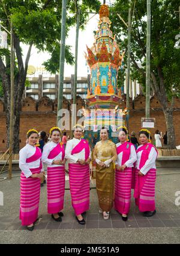
M 114 163 L 117 158 L 116 145 L 110 140 L 98 142 L 94 148 L 94 160 L 98 158 L 104 162 L 112 158 L 109 167 L 101 167 L 96 163 L 96 189 L 101 210 L 110 211 L 113 207 L 115 168 Z

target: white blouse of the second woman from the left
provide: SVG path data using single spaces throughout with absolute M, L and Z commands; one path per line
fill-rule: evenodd
M 42 161 L 43 161 L 43 163 L 47 164 L 47 167 L 62 166 L 62 165 L 59 165 L 59 164 L 52 164 L 53 160 L 62 160 L 62 152 L 59 153 L 55 158 L 52 158 L 52 159 L 47 158 L 50 151 L 52 151 L 52 149 L 55 148 L 56 146 L 57 146 L 57 143 L 55 143 L 55 142 L 49 142 L 46 145 L 44 145 Z

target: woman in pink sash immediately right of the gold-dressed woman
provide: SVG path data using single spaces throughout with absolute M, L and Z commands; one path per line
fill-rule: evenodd
M 132 143 L 127 142 L 127 128 L 121 126 L 119 143 L 116 144 L 118 158 L 115 162 L 115 209 L 122 214 L 122 220 L 127 221 L 131 205 L 131 182 L 133 164 L 137 160 L 136 150 Z

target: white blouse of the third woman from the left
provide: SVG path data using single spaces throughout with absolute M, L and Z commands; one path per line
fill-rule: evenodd
M 82 151 L 77 154 L 71 155 L 71 151 L 79 142 L 80 140 L 76 138 L 67 141 L 65 147 L 65 158 L 68 160 L 68 163 L 76 163 L 78 159 L 85 160 L 85 149 L 82 149 Z M 89 158 L 91 158 L 91 150 L 89 152 Z

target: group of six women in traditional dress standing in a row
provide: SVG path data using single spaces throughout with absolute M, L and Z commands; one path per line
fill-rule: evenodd
M 131 188 L 143 216 L 155 214 L 155 159 L 157 151 L 149 143 L 150 132 L 141 130 L 137 148 L 127 141 L 127 128 L 119 128 L 119 143 L 111 142 L 108 131 L 102 128 L 100 142 L 94 148 L 93 160 L 88 142 L 83 137 L 83 127 L 73 128 L 74 138 L 67 141 L 64 149 L 61 130 L 50 129 L 52 141 L 41 150 L 35 146 L 38 131 L 27 133 L 28 143 L 20 150 L 20 219 L 29 231 L 34 229 L 40 202 L 40 179 L 47 164 L 47 212 L 52 219 L 61 222 L 64 214 L 65 161 L 68 161 L 71 203 L 78 223 L 84 225 L 83 215 L 89 210 L 90 176 L 89 163 L 96 163 L 96 187 L 100 213 L 109 219 L 114 207 L 126 221 L 130 211 Z

